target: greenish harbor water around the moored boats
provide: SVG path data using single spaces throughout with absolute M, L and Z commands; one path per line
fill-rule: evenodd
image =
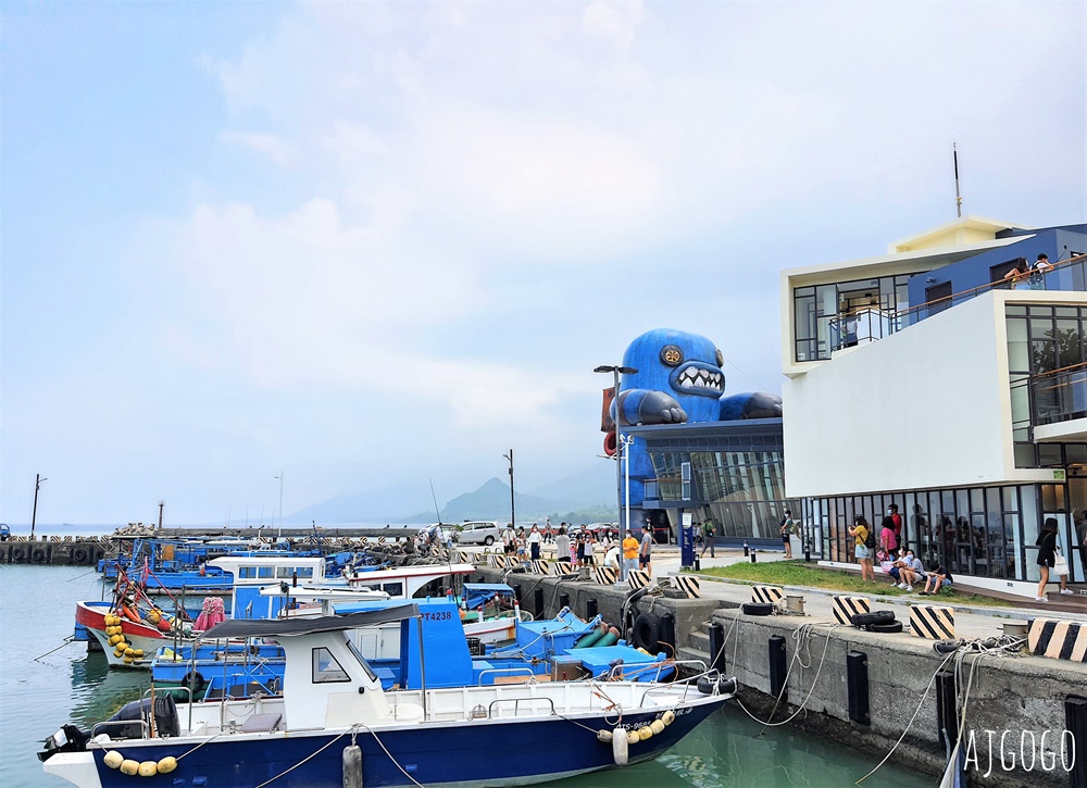
M 67 785 L 41 772 L 35 753 L 42 739 L 66 722 L 89 727 L 109 717 L 148 686 L 148 673 L 110 671 L 105 656 L 87 653 L 86 643 L 62 646 L 64 638 L 72 635 L 76 601 L 101 597 L 98 575 L 87 567 L 0 566 L 0 785 L 4 788 Z M 57 650 L 47 654 L 51 649 Z M 485 755 L 486 749 L 480 753 Z M 652 763 L 550 785 L 848 788 L 878 761 L 788 726 L 764 730 L 734 705 L 711 716 Z M 888 764 L 862 785 L 922 788 L 937 781 Z

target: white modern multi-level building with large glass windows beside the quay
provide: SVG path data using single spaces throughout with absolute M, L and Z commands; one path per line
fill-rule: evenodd
M 1034 596 L 1035 540 L 1087 513 L 1087 225 L 966 217 L 888 253 L 782 273 L 786 493 L 822 555 L 891 503 L 905 542 L 971 585 Z M 1039 253 L 1053 267 L 1012 289 Z M 1084 551 L 1087 552 L 1087 551 Z

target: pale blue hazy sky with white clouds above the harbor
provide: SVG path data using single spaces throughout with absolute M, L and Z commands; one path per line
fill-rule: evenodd
M 1087 218 L 1085 9 L 5 3 L 0 521 L 530 492 L 657 327 L 779 392 L 779 272 L 952 221 L 952 143 Z

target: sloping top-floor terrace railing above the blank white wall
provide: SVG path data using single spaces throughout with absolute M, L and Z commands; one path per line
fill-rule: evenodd
M 1045 273 L 1030 276 L 1032 290 L 1084 291 L 1087 290 L 1087 254 L 1077 254 L 1052 265 Z M 857 345 L 874 342 L 920 323 L 926 317 L 949 310 L 989 290 L 1010 289 L 1011 282 L 1000 279 L 978 285 L 969 290 L 926 301 L 904 310 L 884 310 L 864 307 L 854 312 L 839 314 L 827 321 L 830 352 Z

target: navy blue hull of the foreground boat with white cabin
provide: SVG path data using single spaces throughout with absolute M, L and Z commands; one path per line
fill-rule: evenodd
M 675 710 L 663 731 L 629 746 L 629 763 L 649 761 L 690 733 L 727 701 L 707 697 Z M 623 727 L 638 729 L 661 717 L 660 710 L 623 714 Z M 341 788 L 343 748 L 352 739 L 362 750 L 362 778 L 367 786 L 427 788 L 504 788 L 534 785 L 615 766 L 612 745 L 597 738 L 617 722 L 602 713 L 554 715 L 533 721 L 476 720 L 379 727 L 373 731 L 228 735 L 180 739 L 118 741 L 126 759 L 158 761 L 185 755 L 177 770 L 148 785 L 203 785 L 208 788 L 252 788 L 274 779 L 275 786 Z M 198 749 L 198 745 L 201 745 Z M 83 788 L 130 786 L 132 777 L 103 763 L 107 750 L 95 749 L 97 783 Z M 58 762 L 58 766 L 64 763 Z M 71 768 L 71 764 L 65 763 Z M 51 772 L 50 762 L 45 764 Z M 288 770 L 292 770 L 289 771 Z M 405 775 L 407 772 L 407 775 Z M 58 776 L 63 776 L 57 772 Z M 410 777 L 408 776 L 410 775 Z M 414 781 L 413 781 L 414 780 Z M 143 780 L 141 780 L 141 784 Z

